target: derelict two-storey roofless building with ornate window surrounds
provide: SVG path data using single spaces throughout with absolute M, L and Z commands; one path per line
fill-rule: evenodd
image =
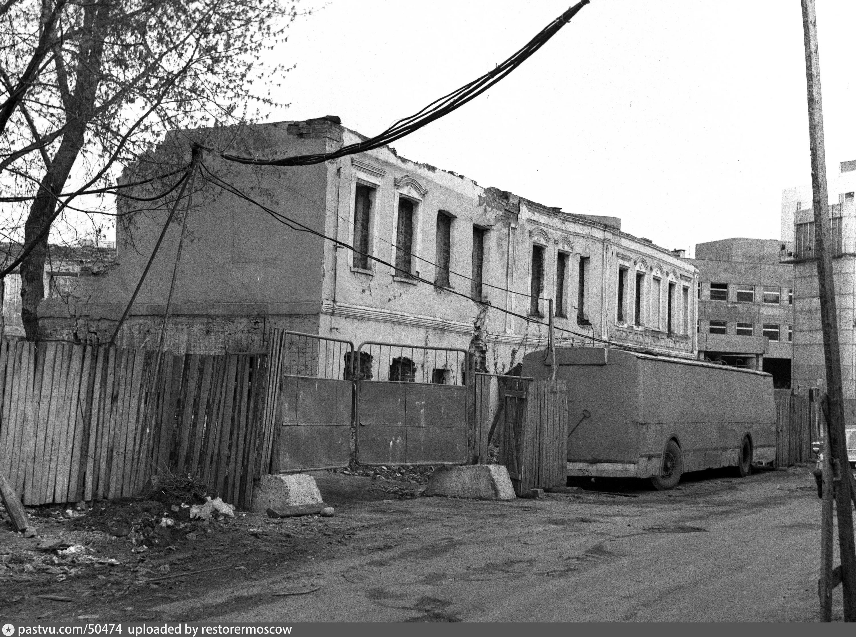
M 365 138 L 324 117 L 259 125 L 242 139 L 254 156 L 286 157 Z M 183 244 L 164 335 L 171 351 L 258 350 L 268 329 L 285 327 L 355 343 L 463 348 L 504 372 L 544 348 L 552 299 L 563 346 L 604 339 L 695 357 L 695 268 L 622 232 L 615 217 L 482 188 L 389 147 L 288 169 L 227 164 L 214 153 L 204 161 L 241 193 L 345 245 L 209 185 L 199 195 L 207 203 L 187 218 L 192 241 Z M 120 206 L 118 265 L 88 277 L 69 304 L 43 301 L 46 335 L 106 339 L 115 329 L 166 218 L 131 199 Z M 158 347 L 179 216 L 174 223 L 122 326 L 122 345 Z

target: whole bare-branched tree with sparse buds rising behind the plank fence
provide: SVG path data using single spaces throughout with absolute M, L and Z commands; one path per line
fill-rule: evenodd
M 166 132 L 253 122 L 288 70 L 265 64 L 298 15 L 282 0 L 7 0 L 0 3 L 0 241 L 21 243 L 22 319 L 36 309 L 51 229 L 72 202 L 186 172 Z M 271 57 L 267 53 L 266 57 Z M 179 135 L 180 137 L 180 135 Z M 157 155 L 154 153 L 160 144 Z

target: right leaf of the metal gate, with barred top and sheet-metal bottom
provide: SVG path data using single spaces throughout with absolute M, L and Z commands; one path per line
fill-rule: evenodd
M 467 352 L 383 342 L 357 348 L 357 460 L 467 461 Z

